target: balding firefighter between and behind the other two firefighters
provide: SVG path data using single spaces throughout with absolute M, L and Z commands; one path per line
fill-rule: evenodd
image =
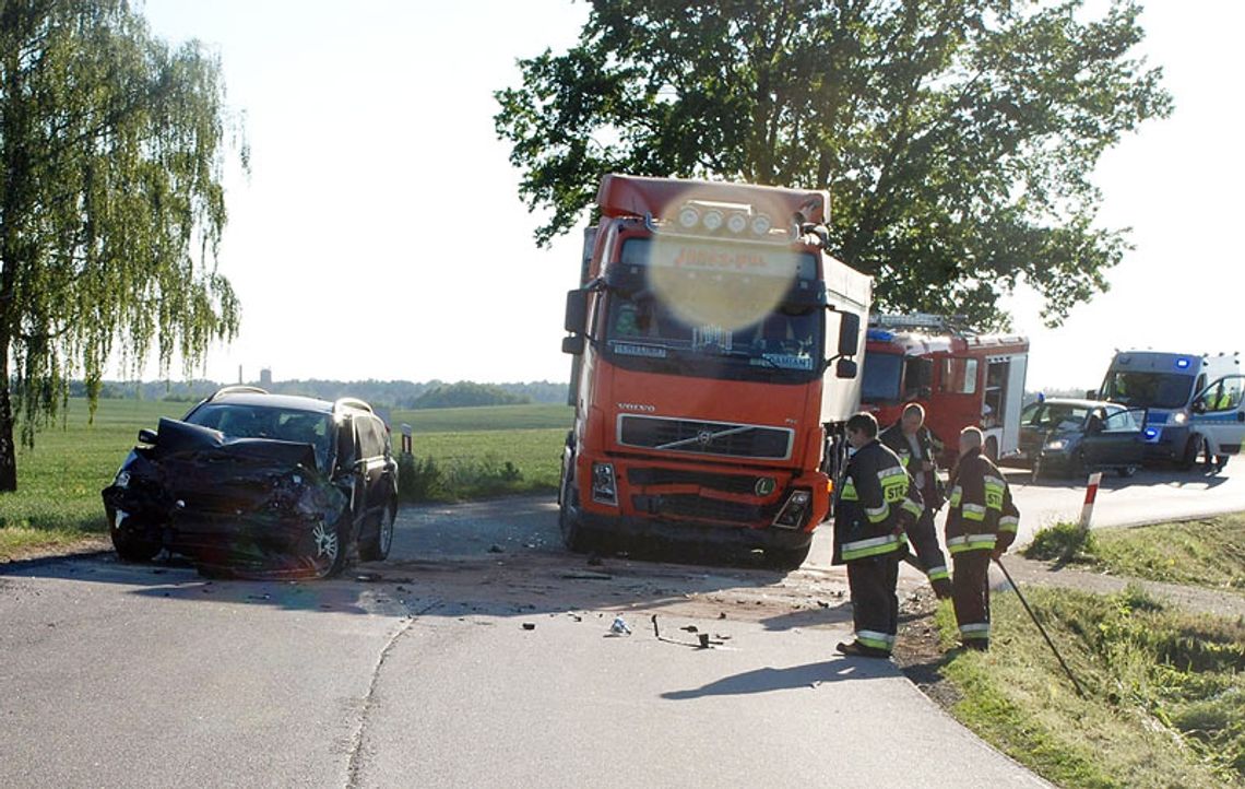
M 934 459 L 934 438 L 925 426 L 925 409 L 919 403 L 904 408 L 899 421 L 878 436 L 883 444 L 899 455 L 908 469 L 913 486 L 920 491 L 924 504 L 921 516 L 908 527 L 908 542 L 916 550 L 920 570 L 929 578 L 939 600 L 951 597 L 951 573 L 946 568 L 946 556 L 937 543 L 934 514 L 942 506 L 942 481 L 937 479 Z

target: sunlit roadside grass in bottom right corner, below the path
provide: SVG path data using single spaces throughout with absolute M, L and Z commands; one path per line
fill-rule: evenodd
M 1061 787 L 1245 785 L 1245 622 L 1164 608 L 1138 590 L 1025 595 L 1087 698 L 1001 593 L 991 651 L 942 666 L 962 694 L 957 719 Z M 949 605 L 937 622 L 952 639 Z

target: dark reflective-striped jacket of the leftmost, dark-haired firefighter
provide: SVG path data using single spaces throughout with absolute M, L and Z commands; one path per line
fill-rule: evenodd
M 876 440 L 852 455 L 834 509 L 835 565 L 906 547 L 901 517 L 921 514 L 920 499 L 910 497 L 909 487 L 899 457 Z

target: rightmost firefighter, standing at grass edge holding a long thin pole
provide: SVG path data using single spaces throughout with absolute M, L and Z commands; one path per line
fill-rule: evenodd
M 960 461 L 946 514 L 946 548 L 955 572 L 951 600 L 960 641 L 969 649 L 990 648 L 990 560 L 1016 540 L 1020 511 L 1002 472 L 981 452 L 981 430 L 960 433 Z

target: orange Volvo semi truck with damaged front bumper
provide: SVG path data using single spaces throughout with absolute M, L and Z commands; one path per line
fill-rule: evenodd
M 566 294 L 568 547 L 666 537 L 796 567 L 859 406 L 873 280 L 824 252 L 815 189 L 609 175 Z

